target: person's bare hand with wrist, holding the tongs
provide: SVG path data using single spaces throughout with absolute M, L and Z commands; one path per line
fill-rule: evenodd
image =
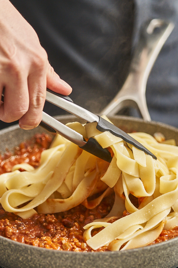
M 46 88 L 69 95 L 71 87 L 50 66 L 38 36 L 9 0 L 0 0 L 0 119 L 23 129 L 40 123 Z

